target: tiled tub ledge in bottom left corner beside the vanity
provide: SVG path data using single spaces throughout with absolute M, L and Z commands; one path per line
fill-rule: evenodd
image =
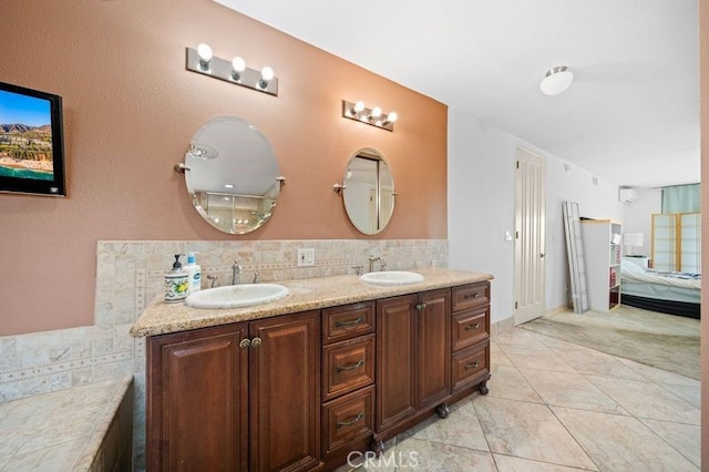
M 130 470 L 133 377 L 0 403 L 0 471 Z

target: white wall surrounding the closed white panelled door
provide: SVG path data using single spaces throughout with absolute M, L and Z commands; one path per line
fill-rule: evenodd
M 546 161 L 546 306 L 568 305 L 562 202 L 582 216 L 623 220 L 618 186 L 474 116 L 449 107 L 449 266 L 492 274 L 493 322 L 513 316 L 514 155 L 517 146 Z M 566 164 L 566 165 L 565 165 Z

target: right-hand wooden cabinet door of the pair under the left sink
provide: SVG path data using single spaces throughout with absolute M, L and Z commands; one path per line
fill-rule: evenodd
M 308 311 L 250 324 L 249 470 L 307 470 L 319 463 L 319 311 Z

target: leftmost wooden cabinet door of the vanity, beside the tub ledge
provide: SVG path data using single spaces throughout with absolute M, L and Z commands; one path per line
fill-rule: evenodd
M 147 469 L 246 470 L 247 324 L 150 338 Z

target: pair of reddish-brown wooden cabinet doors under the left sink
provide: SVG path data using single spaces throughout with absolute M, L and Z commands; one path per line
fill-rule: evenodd
M 147 470 L 320 464 L 320 312 L 147 339 Z

